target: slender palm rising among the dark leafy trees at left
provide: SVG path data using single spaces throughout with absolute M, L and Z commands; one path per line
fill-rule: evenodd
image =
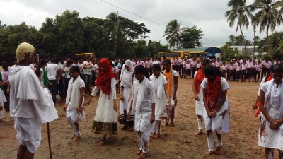
M 110 35 L 110 40 L 114 42 L 113 50 L 115 53 L 115 56 L 117 57 L 117 45 L 119 41 L 119 35 L 120 35 L 120 16 L 119 12 L 117 13 L 110 13 L 108 16 L 106 16 L 106 21 L 104 24 L 108 35 Z

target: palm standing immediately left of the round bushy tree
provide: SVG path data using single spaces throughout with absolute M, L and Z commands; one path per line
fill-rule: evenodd
M 177 20 L 172 20 L 166 25 L 166 29 L 164 32 L 164 36 L 166 36 L 166 40 L 168 41 L 169 47 L 174 45 L 174 48 L 178 47 L 178 40 L 180 37 L 180 25 Z

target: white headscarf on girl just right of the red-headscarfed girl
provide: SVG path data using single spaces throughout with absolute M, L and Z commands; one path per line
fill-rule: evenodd
M 129 71 L 125 69 L 125 71 L 122 72 L 121 76 L 121 86 L 123 87 L 132 87 L 133 84 L 133 73 L 134 73 L 134 66 L 132 65 L 132 61 L 127 59 L 125 61 L 125 66 L 129 67 Z

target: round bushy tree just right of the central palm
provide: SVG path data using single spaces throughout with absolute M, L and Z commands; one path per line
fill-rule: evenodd
M 197 29 L 197 26 L 182 28 L 180 43 L 183 48 L 200 47 L 202 46 L 202 35 L 202 30 Z

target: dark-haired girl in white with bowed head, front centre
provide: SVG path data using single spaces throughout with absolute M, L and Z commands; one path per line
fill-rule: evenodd
M 134 81 L 132 88 L 132 101 L 128 115 L 135 111 L 134 130 L 139 136 L 137 155 L 139 158 L 146 158 L 149 153 L 149 136 L 154 131 L 156 105 L 154 84 L 149 81 L 149 73 L 142 65 L 134 69 L 134 76 L 137 81 Z

